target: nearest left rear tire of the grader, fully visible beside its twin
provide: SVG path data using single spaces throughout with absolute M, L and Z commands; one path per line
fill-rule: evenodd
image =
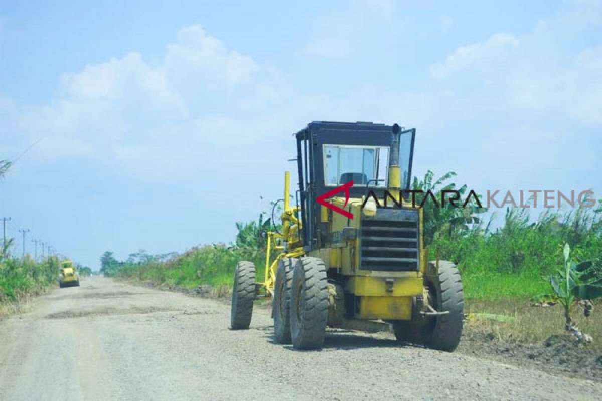
M 317 257 L 301 257 L 293 273 L 291 338 L 299 349 L 320 349 L 328 319 L 326 266 Z

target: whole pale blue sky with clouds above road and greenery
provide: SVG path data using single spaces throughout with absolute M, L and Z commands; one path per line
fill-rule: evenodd
M 600 198 L 601 32 L 593 0 L 3 0 L 0 159 L 36 145 L 0 215 L 93 268 L 228 242 L 312 120 L 416 127 L 419 175 Z

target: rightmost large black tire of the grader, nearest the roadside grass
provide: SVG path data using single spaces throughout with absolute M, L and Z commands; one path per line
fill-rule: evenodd
M 424 326 L 424 345 L 452 352 L 460 342 L 464 319 L 464 291 L 456 265 L 448 260 L 429 262 L 426 274 L 427 286 L 433 307 L 438 311 L 449 311 L 429 319 Z

